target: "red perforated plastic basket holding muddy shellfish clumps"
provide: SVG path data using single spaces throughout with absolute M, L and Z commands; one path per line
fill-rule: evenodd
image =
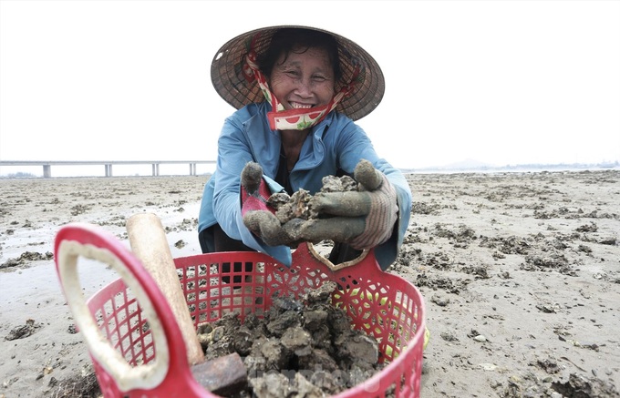
M 59 230 L 55 243 L 58 277 L 78 329 L 84 333 L 98 383 L 106 397 L 216 396 L 191 375 L 181 331 L 171 309 L 140 260 L 114 236 L 85 224 Z M 81 297 L 78 257 L 108 263 L 120 274 L 94 294 Z M 242 264 L 242 289 L 222 281 L 222 263 Z M 334 266 L 302 244 L 287 268 L 256 252 L 221 252 L 175 259 L 191 317 L 198 325 L 228 311 L 262 317 L 275 296 L 300 298 L 335 281 L 332 304 L 343 308 L 352 326 L 377 338 L 387 366 L 337 397 L 418 397 L 422 368 L 424 302 L 410 282 L 380 270 L 372 250 Z M 246 271 L 244 265 L 252 265 Z M 235 283 L 236 285 L 236 283 Z M 259 299 L 259 300 L 257 300 Z M 257 303 L 258 302 L 258 303 Z

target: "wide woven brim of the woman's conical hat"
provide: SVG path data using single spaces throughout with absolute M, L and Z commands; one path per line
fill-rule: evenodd
M 255 81 L 248 82 L 243 77 L 244 58 L 248 54 L 250 43 L 256 34 L 260 33 L 260 36 L 254 41 L 254 50 L 260 55 L 271 43 L 274 33 L 283 27 L 312 29 L 334 36 L 338 43 L 338 57 L 342 69 L 340 84 L 351 82 L 356 63 L 359 64 L 360 69 L 356 78 L 355 90 L 342 99 L 336 107 L 338 112 L 357 120 L 367 116 L 379 105 L 386 85 L 377 61 L 364 48 L 346 37 L 309 26 L 269 26 L 254 29 L 229 40 L 218 50 L 211 64 L 212 84 L 220 97 L 236 109 L 265 100 L 258 84 Z M 336 85 L 336 90 L 338 88 Z

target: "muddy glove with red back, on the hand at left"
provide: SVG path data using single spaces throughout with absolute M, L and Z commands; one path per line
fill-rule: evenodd
M 263 180 L 263 168 L 248 162 L 241 173 L 241 214 L 243 224 L 268 246 L 289 244 L 292 239 L 267 205 L 271 191 Z

